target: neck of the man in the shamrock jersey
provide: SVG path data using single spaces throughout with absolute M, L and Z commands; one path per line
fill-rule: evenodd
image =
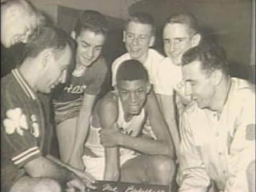
M 32 59 L 26 59 L 18 69 L 30 87 L 36 92 L 36 81 L 38 73 L 35 72 L 35 68 L 32 66 L 36 66 L 32 64 Z

